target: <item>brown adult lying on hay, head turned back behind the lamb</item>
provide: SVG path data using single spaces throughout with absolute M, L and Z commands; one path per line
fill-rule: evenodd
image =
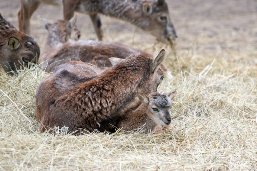
M 114 66 L 95 78 L 77 73 L 73 65 L 79 61 L 58 66 L 37 89 L 39 130 L 67 126 L 69 132 L 80 128 L 112 132 L 112 125 L 138 92 L 150 94 L 157 90 L 163 78 L 159 65 L 164 57 L 165 50 L 154 57 L 134 54 L 126 59 L 110 58 Z

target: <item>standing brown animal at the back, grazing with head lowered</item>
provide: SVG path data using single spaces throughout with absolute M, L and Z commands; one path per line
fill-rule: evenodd
M 19 29 L 30 34 L 30 18 L 41 3 L 61 5 L 61 0 L 20 0 L 18 11 Z M 158 40 L 171 43 L 177 34 L 169 17 L 165 0 L 63 0 L 64 20 L 70 20 L 74 11 L 90 16 L 99 40 L 103 29 L 99 14 L 128 21 Z M 98 14 L 99 13 L 99 14 Z

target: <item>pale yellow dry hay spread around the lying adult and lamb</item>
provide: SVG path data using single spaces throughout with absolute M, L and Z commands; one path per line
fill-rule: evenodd
M 159 89 L 178 95 L 174 129 L 162 134 L 39 133 L 34 96 L 48 74 L 2 72 L 0 170 L 256 170 L 256 66 L 167 52 L 172 72 Z

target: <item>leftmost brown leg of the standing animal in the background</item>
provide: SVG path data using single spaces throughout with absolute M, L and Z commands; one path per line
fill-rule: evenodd
M 21 8 L 18 10 L 19 30 L 30 34 L 30 18 L 40 5 L 38 0 L 21 0 Z

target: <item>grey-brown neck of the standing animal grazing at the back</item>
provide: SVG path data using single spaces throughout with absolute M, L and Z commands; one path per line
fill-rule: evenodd
M 97 7 L 93 9 L 96 9 L 94 12 L 129 21 L 142 28 L 148 23 L 142 17 L 141 2 L 142 0 L 120 0 L 119 2 L 117 0 L 102 0 L 97 2 Z

